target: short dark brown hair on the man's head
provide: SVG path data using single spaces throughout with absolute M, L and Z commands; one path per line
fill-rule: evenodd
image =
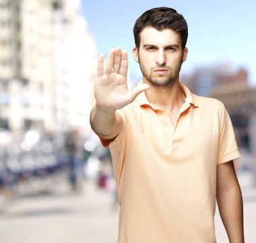
M 183 15 L 169 7 L 156 7 L 143 13 L 134 24 L 133 35 L 135 45 L 139 49 L 140 33 L 146 27 L 156 30 L 172 29 L 181 36 L 181 45 L 184 49 L 187 44 L 188 27 Z

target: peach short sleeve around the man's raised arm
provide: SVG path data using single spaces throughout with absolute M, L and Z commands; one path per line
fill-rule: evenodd
M 109 146 L 119 146 L 119 144 L 121 144 L 121 141 L 123 140 L 123 137 L 125 136 L 127 127 L 129 126 L 125 109 L 119 109 L 117 110 L 117 112 L 123 118 L 123 128 L 118 134 L 111 134 L 110 136 L 108 136 L 109 139 L 100 138 L 100 142 L 105 148 L 108 148 Z

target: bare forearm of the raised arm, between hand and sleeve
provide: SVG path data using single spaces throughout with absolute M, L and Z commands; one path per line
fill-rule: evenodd
M 90 124 L 92 130 L 100 138 L 109 138 L 109 136 L 119 134 L 123 128 L 123 119 L 116 111 L 105 112 L 94 105 L 90 113 Z

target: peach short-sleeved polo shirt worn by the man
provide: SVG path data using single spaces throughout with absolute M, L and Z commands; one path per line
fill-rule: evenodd
M 216 166 L 240 156 L 224 105 L 193 95 L 172 126 L 145 93 L 118 112 L 110 147 L 120 203 L 119 243 L 216 242 Z

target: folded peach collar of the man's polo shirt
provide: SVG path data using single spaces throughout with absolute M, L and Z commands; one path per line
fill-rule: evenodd
M 139 83 L 142 83 L 142 81 L 140 81 Z M 185 104 L 189 105 L 189 106 L 193 105 L 194 107 L 198 107 L 197 102 L 195 101 L 193 94 L 191 93 L 189 88 L 187 86 L 183 85 L 182 83 L 180 83 L 180 87 L 186 95 Z M 148 101 L 148 98 L 146 97 L 145 92 L 140 93 L 137 96 L 137 98 L 135 99 L 135 101 L 137 101 L 137 103 L 139 103 L 140 106 L 148 105 L 148 106 L 152 107 L 152 109 L 154 109 L 154 110 L 162 110 L 159 107 L 152 105 L 152 103 L 150 103 L 150 101 Z

